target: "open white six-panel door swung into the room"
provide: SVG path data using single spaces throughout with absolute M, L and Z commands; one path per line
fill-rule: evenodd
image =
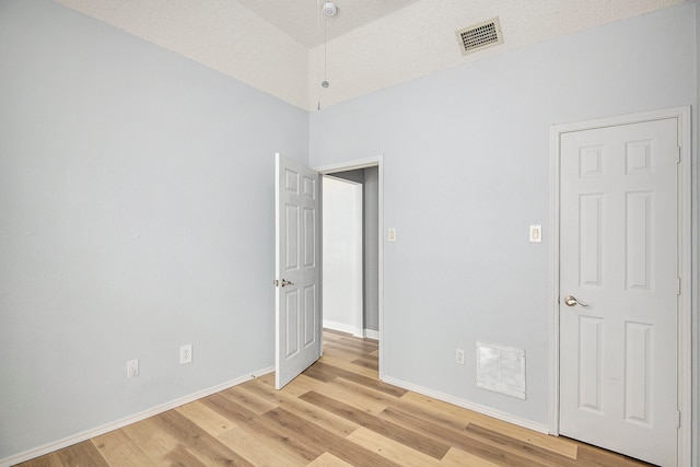
M 322 353 L 320 176 L 276 156 L 276 359 L 278 389 Z

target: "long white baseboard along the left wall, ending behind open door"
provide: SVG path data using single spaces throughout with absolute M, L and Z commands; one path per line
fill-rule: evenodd
M 212 394 L 219 393 L 221 390 L 228 389 L 233 386 L 237 386 L 246 381 L 250 381 L 258 376 L 262 376 L 264 374 L 268 374 L 275 371 L 275 366 L 270 366 L 267 369 L 258 370 L 253 372 L 250 375 L 242 376 L 235 380 L 231 380 L 229 382 L 219 384 L 217 386 L 212 386 L 207 389 L 199 390 L 197 393 L 177 398 L 175 400 L 171 400 L 170 402 L 163 404 L 161 406 L 153 407 L 151 409 L 144 410 L 139 413 L 135 413 L 132 416 L 122 418 L 120 420 L 116 420 L 112 423 L 103 424 L 102 427 L 94 428 L 92 430 L 83 431 L 82 433 L 74 434 L 72 436 L 65 437 L 59 441 L 55 441 L 52 443 L 45 444 L 43 446 L 36 447 L 34 450 L 25 451 L 24 453 L 20 453 L 13 455 L 11 457 L 5 457 L 4 459 L 0 459 L 0 467 L 10 467 L 15 464 L 23 463 L 25 460 L 30 460 L 45 454 L 52 453 L 54 451 L 62 450 L 63 447 L 71 446 L 77 443 L 81 443 L 83 441 L 88 441 L 92 437 L 100 436 L 102 434 L 108 433 L 114 430 L 118 430 L 122 427 L 126 427 L 131 423 L 136 423 L 138 421 L 144 420 L 149 417 L 156 416 L 159 413 L 163 413 L 167 410 L 174 409 L 179 406 L 184 406 L 185 404 L 192 402 L 195 400 L 201 399 L 207 396 L 211 396 Z

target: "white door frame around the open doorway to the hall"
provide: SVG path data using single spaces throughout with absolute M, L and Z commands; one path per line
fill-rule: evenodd
M 332 175 L 338 172 L 348 172 L 354 171 L 359 168 L 368 168 L 368 167 L 377 167 L 377 178 L 378 178 L 378 196 L 377 196 L 377 212 L 378 212 L 378 222 L 377 222 L 377 249 L 378 249 L 378 327 L 380 327 L 380 380 L 384 380 L 384 154 L 375 155 L 373 157 L 366 159 L 358 159 L 352 161 L 339 162 L 330 165 L 323 165 L 319 167 L 313 167 L 314 171 L 318 172 L 323 175 Z M 323 238 L 323 236 L 322 236 Z M 323 249 L 323 248 L 322 248 Z

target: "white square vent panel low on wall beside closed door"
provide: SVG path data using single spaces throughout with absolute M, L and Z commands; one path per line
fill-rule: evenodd
M 477 387 L 525 398 L 525 350 L 477 342 Z

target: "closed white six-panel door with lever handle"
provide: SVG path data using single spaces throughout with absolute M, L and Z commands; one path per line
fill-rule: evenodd
M 663 466 L 677 455 L 677 135 L 675 118 L 574 131 L 560 152 L 560 433 Z

